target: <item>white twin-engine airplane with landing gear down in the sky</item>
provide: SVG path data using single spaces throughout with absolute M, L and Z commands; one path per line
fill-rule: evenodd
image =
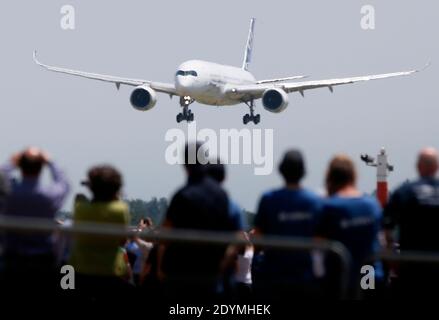
M 258 124 L 261 116 L 255 114 L 254 110 L 254 101 L 257 99 L 262 99 L 262 105 L 265 110 L 279 113 L 288 106 L 288 94 L 292 92 L 299 92 L 304 97 L 304 92 L 310 89 L 326 87 L 333 92 L 334 87 L 338 85 L 407 76 L 421 71 L 410 70 L 351 78 L 299 82 L 293 80 L 303 79 L 306 76 L 257 81 L 248 71 L 253 51 L 254 25 L 255 19 L 253 18 L 250 20 L 250 29 L 241 68 L 202 60 L 189 60 L 178 67 L 174 83 L 122 78 L 49 66 L 37 60 L 36 50 L 34 51 L 33 58 L 36 64 L 49 71 L 110 82 L 115 84 L 117 89 L 120 88 L 120 85 L 134 86 L 135 88 L 130 96 L 130 103 L 134 109 L 139 111 L 147 111 L 155 106 L 157 102 L 156 92 L 169 94 L 171 98 L 178 96 L 180 97 L 180 106 L 182 107 L 182 112 L 178 113 L 176 117 L 178 123 L 194 120 L 194 114 L 189 109 L 189 106 L 195 101 L 212 106 L 231 106 L 245 103 L 249 107 L 250 113 L 244 115 L 244 125 L 249 122 Z

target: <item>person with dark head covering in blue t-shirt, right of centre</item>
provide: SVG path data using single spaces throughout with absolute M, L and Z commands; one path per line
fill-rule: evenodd
M 300 185 L 305 175 L 302 154 L 297 150 L 286 152 L 279 171 L 285 186 L 262 196 L 255 234 L 311 238 L 321 199 Z M 254 289 L 259 296 L 290 299 L 312 294 L 314 276 L 309 253 L 256 250 L 253 261 Z

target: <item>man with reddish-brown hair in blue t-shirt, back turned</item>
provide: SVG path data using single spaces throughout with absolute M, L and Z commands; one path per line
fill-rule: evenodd
M 363 265 L 373 265 L 376 280 L 382 278 L 380 264 L 371 257 L 378 251 L 378 232 L 382 210 L 378 201 L 363 195 L 356 188 L 356 172 L 350 158 L 338 155 L 332 159 L 326 175 L 328 198 L 319 215 L 317 237 L 341 242 L 351 255 L 348 283 L 350 298 L 360 297 L 360 277 Z M 325 261 L 325 289 L 334 296 L 340 293 L 340 261 L 329 254 Z

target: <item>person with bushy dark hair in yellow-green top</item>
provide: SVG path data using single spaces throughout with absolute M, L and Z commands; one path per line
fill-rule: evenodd
M 117 169 L 109 165 L 95 166 L 88 171 L 88 180 L 82 185 L 90 189 L 92 197 L 90 201 L 76 201 L 74 225 L 128 226 L 130 214 L 128 205 L 120 200 L 123 181 Z M 74 236 L 70 264 L 75 268 L 78 292 L 99 299 L 128 289 L 126 282 L 118 276 L 118 266 L 124 259 L 120 247 L 125 241 L 125 237 L 116 236 Z

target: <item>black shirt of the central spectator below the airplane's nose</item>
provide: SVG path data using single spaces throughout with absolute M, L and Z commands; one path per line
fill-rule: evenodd
M 171 200 L 166 219 L 176 229 L 236 231 L 229 199 L 217 182 L 207 177 L 189 179 Z M 167 275 L 217 276 L 225 246 L 169 244 L 163 257 Z

